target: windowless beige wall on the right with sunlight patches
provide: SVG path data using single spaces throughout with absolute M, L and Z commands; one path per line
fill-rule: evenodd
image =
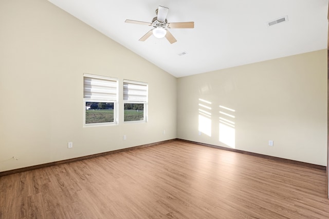
M 320 50 L 178 78 L 177 137 L 326 166 L 326 54 Z

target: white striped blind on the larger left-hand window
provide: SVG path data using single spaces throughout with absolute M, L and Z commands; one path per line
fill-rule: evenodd
M 115 79 L 83 77 L 83 97 L 117 101 L 118 82 Z

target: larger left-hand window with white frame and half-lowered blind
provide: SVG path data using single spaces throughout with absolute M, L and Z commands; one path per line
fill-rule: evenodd
M 117 124 L 117 79 L 83 75 L 84 126 Z

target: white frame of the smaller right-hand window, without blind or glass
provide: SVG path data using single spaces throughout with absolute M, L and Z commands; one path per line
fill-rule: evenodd
M 141 85 L 141 86 L 146 86 L 145 89 L 145 100 L 144 101 L 132 101 L 125 99 L 124 95 L 124 86 L 125 84 L 134 84 L 134 85 Z M 123 80 L 123 123 L 147 123 L 148 122 L 148 104 L 149 104 L 149 84 L 145 82 L 137 82 L 137 81 L 130 81 L 130 80 Z M 124 104 L 143 104 L 143 120 L 135 120 L 135 121 L 124 121 Z

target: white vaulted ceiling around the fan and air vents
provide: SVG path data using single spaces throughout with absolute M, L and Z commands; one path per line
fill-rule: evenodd
M 168 73 L 182 77 L 325 49 L 328 0 L 48 0 Z M 194 22 L 194 29 L 170 29 L 177 42 L 153 35 L 158 6 L 169 23 Z M 282 16 L 288 22 L 268 27 Z M 186 55 L 179 56 L 179 53 Z

